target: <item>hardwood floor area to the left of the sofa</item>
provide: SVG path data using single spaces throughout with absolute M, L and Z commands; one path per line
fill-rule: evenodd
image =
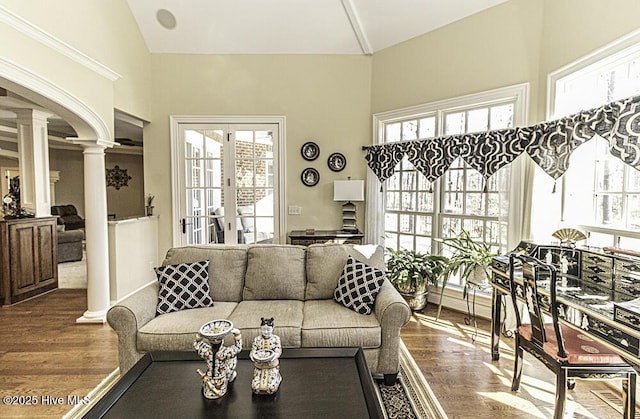
M 60 418 L 117 368 L 109 325 L 76 324 L 86 307 L 86 290 L 58 289 L 0 308 L 1 418 Z

